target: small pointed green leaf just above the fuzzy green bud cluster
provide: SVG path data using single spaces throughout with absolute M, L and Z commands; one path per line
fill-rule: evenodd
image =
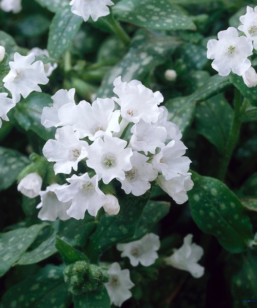
M 87 257 L 65 241 L 56 237 L 56 248 L 66 264 L 72 264 L 77 261 L 88 261 Z

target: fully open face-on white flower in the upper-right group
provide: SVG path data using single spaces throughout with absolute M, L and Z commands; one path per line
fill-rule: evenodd
M 233 73 L 242 76 L 251 66 L 247 59 L 252 54 L 252 42 L 245 36 L 239 36 L 235 28 L 218 32 L 218 40 L 209 40 L 207 43 L 207 57 L 214 59 L 212 67 L 221 76 Z

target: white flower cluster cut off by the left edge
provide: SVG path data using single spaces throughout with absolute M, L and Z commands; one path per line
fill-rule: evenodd
M 2 46 L 1 46 L 2 47 Z M 3 57 L 5 50 L 0 49 Z M 42 61 L 35 61 L 35 54 L 32 52 L 23 56 L 18 52 L 14 53 L 14 61 L 10 61 L 10 71 L 3 79 L 4 87 L 10 91 L 12 99 L 8 98 L 8 93 L 0 93 L 0 127 L 2 120 L 9 121 L 7 113 L 17 103 L 20 102 L 21 96 L 27 98 L 32 91 L 41 92 L 39 84 L 48 83 L 48 78 L 44 70 Z

